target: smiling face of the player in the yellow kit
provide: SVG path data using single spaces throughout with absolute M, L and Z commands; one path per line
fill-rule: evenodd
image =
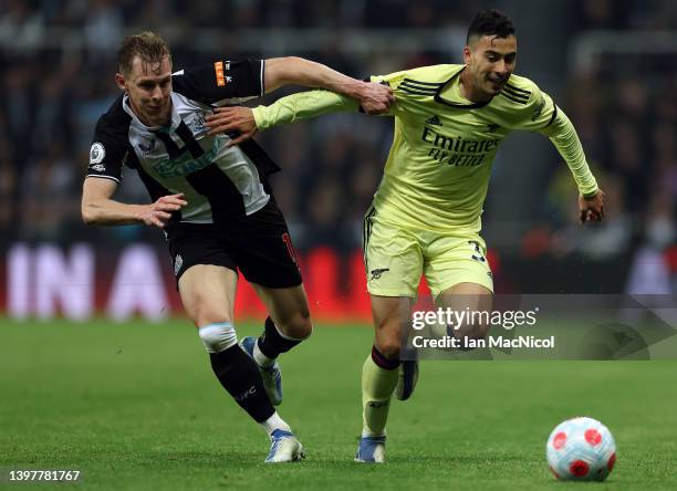
M 464 50 L 464 61 L 471 73 L 472 92 L 489 98 L 503 88 L 514 71 L 517 38 L 483 35 Z

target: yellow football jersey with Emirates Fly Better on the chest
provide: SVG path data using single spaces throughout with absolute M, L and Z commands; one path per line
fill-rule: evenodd
M 555 119 L 552 98 L 518 75 L 488 103 L 464 98 L 464 69 L 445 64 L 372 77 L 387 83 L 396 97 L 393 146 L 374 197 L 382 218 L 478 232 L 500 143 L 513 129 L 544 130 Z

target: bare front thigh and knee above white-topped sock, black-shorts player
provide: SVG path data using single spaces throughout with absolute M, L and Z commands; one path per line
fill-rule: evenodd
M 213 264 L 195 264 L 181 274 L 179 295 L 196 326 L 232 322 L 237 282 L 232 269 Z

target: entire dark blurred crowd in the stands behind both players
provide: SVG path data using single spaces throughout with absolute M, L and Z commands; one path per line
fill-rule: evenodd
M 572 2 L 571 34 L 596 29 L 674 32 L 675 4 L 660 0 Z M 0 241 L 158 240 L 156 231 L 143 227 L 87 229 L 80 219 L 80 190 L 94 124 L 117 95 L 115 52 L 129 25 L 179 33 L 169 39 L 175 65 L 184 66 L 221 54 L 204 46 L 192 50 L 190 32 L 196 27 L 223 32 L 236 27 L 455 27 L 465 32 L 473 12 L 489 6 L 497 2 L 0 0 Z M 55 33 L 63 38 L 45 40 Z M 81 42 L 70 43 L 70 36 Z M 237 41 L 233 45 L 237 48 Z M 390 71 L 450 62 L 447 50 L 402 53 Z M 373 69 L 371 60 L 340 50 L 288 54 L 304 55 L 354 76 L 368 75 Z M 238 58 L 246 55 L 265 58 L 267 53 L 238 52 Z M 550 180 L 538 186 L 543 190 L 545 213 L 529 218 L 533 223 L 524 236 L 523 253 L 583 250 L 604 255 L 642 241 L 663 248 L 675 242 L 675 66 L 677 52 L 632 59 L 605 54 L 593 70 L 570 71 L 566 94 L 560 94 L 558 101 L 574 122 L 589 161 L 604 185 L 610 220 L 583 236 L 572 231 L 572 179 L 565 166 L 556 166 Z M 387 118 L 355 115 L 304 122 L 259 136 L 283 167 L 275 178 L 275 196 L 298 248 L 331 244 L 350 251 L 360 245 L 362 215 L 378 185 L 390 138 Z M 119 199 L 148 200 L 133 171 L 125 175 Z

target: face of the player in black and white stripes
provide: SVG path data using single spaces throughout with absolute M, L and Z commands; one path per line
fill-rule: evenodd
M 164 126 L 171 118 L 171 63 L 165 56 L 162 62 L 146 63 L 134 59 L 132 71 L 125 77 L 116 75 L 117 83 L 129 95 L 136 116 L 147 126 Z

